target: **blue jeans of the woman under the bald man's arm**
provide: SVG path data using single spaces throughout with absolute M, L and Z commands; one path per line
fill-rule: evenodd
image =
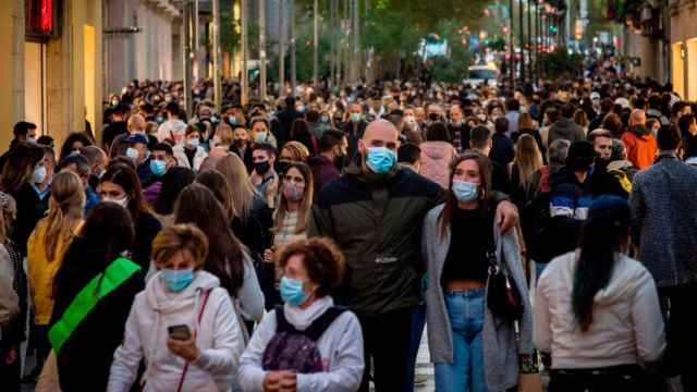
M 445 307 L 453 333 L 453 363 L 436 364 L 437 392 L 486 392 L 484 378 L 485 289 L 447 292 Z

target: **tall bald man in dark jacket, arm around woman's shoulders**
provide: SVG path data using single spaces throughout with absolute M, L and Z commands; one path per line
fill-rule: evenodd
M 360 320 L 366 347 L 362 391 L 368 391 L 370 357 L 377 392 L 413 391 L 407 377 L 412 314 L 420 301 L 420 231 L 426 213 L 442 203 L 441 187 L 400 168 L 399 132 L 389 121 L 371 122 L 344 175 L 315 199 L 309 236 L 332 238 L 346 257 L 339 303 Z M 503 231 L 517 223 L 509 201 L 497 208 Z

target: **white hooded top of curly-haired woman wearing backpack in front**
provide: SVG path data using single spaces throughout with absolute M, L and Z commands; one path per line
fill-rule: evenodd
M 333 306 L 330 297 L 316 301 L 305 310 L 289 309 L 284 305 L 286 320 L 303 331 L 311 321 Z M 266 370 L 261 360 L 266 346 L 276 334 L 276 310 L 266 314 L 254 331 L 249 345 L 240 358 L 237 383 L 245 392 L 262 392 Z M 323 372 L 297 375 L 297 392 L 348 392 L 360 387 L 363 369 L 363 333 L 358 318 L 351 311 L 344 311 L 325 331 L 317 341 L 317 348 L 327 367 Z

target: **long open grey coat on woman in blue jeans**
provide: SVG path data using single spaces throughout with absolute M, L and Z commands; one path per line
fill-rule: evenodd
M 432 363 L 453 362 L 453 334 L 445 309 L 441 275 L 448 249 L 450 231 L 440 235 L 439 217 L 444 205 L 431 209 L 424 221 L 421 249 L 428 262 L 429 284 L 426 290 L 426 317 L 428 320 L 428 345 Z M 533 307 L 527 295 L 527 284 L 518 249 L 515 230 L 501 236 L 494 224 L 493 236 L 497 256 L 503 256 L 505 267 L 518 292 L 522 294 L 525 311 L 519 321 L 519 341 L 516 341 L 513 323 L 496 318 L 485 299 L 484 365 L 485 380 L 490 392 L 504 391 L 514 387 L 518 378 L 518 355 L 533 353 Z M 485 296 L 486 297 L 486 296 Z

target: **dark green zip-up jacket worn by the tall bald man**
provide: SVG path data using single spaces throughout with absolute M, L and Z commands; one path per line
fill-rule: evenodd
M 317 194 L 308 236 L 332 238 L 346 257 L 338 302 L 370 316 L 417 306 L 421 224 L 442 201 L 441 187 L 409 169 L 380 175 L 357 162 Z

